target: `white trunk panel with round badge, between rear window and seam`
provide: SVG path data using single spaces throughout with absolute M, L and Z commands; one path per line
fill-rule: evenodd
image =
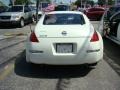
M 35 29 L 38 38 L 79 38 L 89 37 L 91 34 L 89 25 L 42 25 Z

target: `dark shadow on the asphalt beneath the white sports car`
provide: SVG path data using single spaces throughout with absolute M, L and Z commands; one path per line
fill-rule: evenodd
M 77 78 L 86 76 L 92 69 L 85 65 L 36 65 L 25 60 L 25 51 L 15 61 L 16 75 L 30 78 Z

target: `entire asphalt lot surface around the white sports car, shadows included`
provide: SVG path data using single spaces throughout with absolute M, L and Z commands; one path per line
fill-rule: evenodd
M 98 28 L 99 22 L 92 23 Z M 0 29 L 0 90 L 120 89 L 120 47 L 115 43 L 104 39 L 104 58 L 95 68 L 84 65 L 32 65 L 25 61 L 24 40 L 29 32 L 28 25 Z

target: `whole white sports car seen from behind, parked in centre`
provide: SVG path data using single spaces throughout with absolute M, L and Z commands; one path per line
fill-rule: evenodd
M 26 61 L 30 63 L 96 65 L 102 58 L 102 37 L 81 12 L 47 13 L 27 39 Z

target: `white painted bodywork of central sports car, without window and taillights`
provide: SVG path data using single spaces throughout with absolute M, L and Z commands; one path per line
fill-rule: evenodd
M 43 25 L 43 15 L 33 31 L 38 42 L 31 42 L 28 36 L 26 43 L 26 61 L 36 64 L 77 65 L 93 64 L 103 58 L 103 41 L 101 35 L 94 30 L 88 18 L 81 12 L 54 11 L 48 14 L 80 14 L 85 19 L 84 25 Z M 67 35 L 62 33 L 66 31 Z M 96 32 L 98 41 L 91 42 Z M 57 44 L 72 44 L 73 52 L 56 52 Z M 65 47 L 65 45 L 64 45 Z M 71 46 L 70 46 L 71 47 Z M 66 50 L 67 47 L 64 49 Z M 64 51 L 65 51 L 64 50 Z

